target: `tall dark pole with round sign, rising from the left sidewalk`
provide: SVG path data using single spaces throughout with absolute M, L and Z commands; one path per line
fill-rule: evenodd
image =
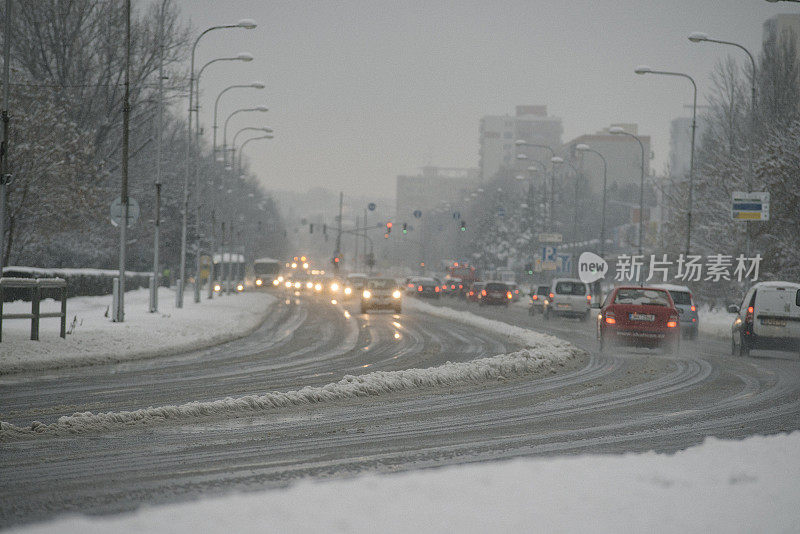
M 125 96 L 122 101 L 122 218 L 119 222 L 119 288 L 114 322 L 125 321 L 125 248 L 128 229 L 128 134 L 130 126 L 131 0 L 125 0 Z

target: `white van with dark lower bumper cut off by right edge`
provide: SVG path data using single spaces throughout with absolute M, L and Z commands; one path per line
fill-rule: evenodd
M 759 282 L 751 287 L 731 326 L 731 353 L 747 356 L 751 349 L 800 352 L 800 284 Z

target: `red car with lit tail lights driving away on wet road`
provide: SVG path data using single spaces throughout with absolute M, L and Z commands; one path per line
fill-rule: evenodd
M 597 316 L 600 351 L 609 345 L 680 350 L 680 319 L 669 292 L 655 287 L 617 287 Z

